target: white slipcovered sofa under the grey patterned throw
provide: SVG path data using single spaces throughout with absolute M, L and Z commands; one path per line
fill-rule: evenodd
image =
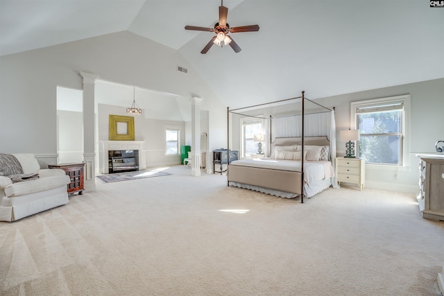
M 59 168 L 40 169 L 32 154 L 12 154 L 24 174 L 37 173 L 36 180 L 13 183 L 0 175 L 0 221 L 15 221 L 40 211 L 68 203 L 67 184 L 70 179 Z

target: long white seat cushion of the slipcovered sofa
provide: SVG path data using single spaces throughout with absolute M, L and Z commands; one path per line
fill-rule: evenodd
M 5 188 L 5 195 L 8 197 L 31 194 L 40 191 L 54 189 L 60 186 L 66 186 L 71 180 L 67 175 L 44 177 L 37 180 L 18 182 L 10 184 Z

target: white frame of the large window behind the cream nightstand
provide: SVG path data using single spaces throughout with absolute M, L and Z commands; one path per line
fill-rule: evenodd
M 358 129 L 357 122 L 357 107 L 362 107 L 365 105 L 384 105 L 384 103 L 390 103 L 395 101 L 402 101 L 403 112 L 402 112 L 402 125 L 401 125 L 401 136 L 400 136 L 400 164 L 374 164 L 367 163 L 368 168 L 382 168 L 388 171 L 409 171 L 410 169 L 410 94 L 404 94 L 400 96 L 388 96 L 383 98 L 373 98 L 365 101 L 355 101 L 350 103 L 350 128 Z M 386 134 L 389 135 L 390 133 Z M 359 150 L 359 144 L 357 145 L 357 155 L 359 157 L 361 151 Z

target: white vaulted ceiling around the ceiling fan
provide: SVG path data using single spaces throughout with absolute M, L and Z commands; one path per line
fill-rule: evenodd
M 225 0 L 242 51 L 212 46 L 218 0 L 0 0 L 0 53 L 119 31 L 179 51 L 230 107 L 348 94 L 444 77 L 444 8 L 429 1 Z

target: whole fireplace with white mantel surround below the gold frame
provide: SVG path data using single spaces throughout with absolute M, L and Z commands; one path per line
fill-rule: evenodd
M 101 173 L 117 173 L 118 171 L 127 170 L 139 171 L 146 168 L 146 161 L 143 150 L 144 141 L 100 142 L 101 149 L 99 150 L 99 167 Z M 131 153 L 134 154 L 132 155 Z M 111 160 L 110 157 L 112 157 Z

